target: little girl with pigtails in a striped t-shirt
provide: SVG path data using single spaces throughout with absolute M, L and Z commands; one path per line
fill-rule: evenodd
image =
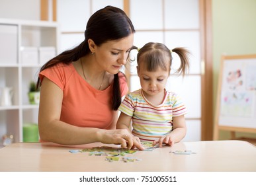
M 175 92 L 165 89 L 172 65 L 171 53 L 181 58 L 177 73 L 189 69 L 189 52 L 185 48 L 169 50 L 164 44 L 149 42 L 137 55 L 137 72 L 142 89 L 126 95 L 118 108 L 121 111 L 116 128 L 130 130 L 142 141 L 173 145 L 186 135 L 184 114 L 187 108 Z M 137 139 L 138 139 L 137 138 Z

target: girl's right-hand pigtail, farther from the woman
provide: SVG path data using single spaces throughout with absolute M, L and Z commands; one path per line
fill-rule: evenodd
M 177 69 L 176 73 L 184 76 L 185 73 L 189 71 L 189 55 L 191 53 L 185 48 L 174 48 L 171 50 L 171 52 L 175 52 L 177 55 L 179 55 L 181 59 L 181 65 L 179 69 Z

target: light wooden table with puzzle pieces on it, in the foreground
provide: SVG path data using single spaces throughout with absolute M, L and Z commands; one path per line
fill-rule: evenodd
M 84 149 L 104 144 L 92 143 L 72 147 L 53 143 L 13 143 L 0 149 L 0 171 L 48 172 L 256 172 L 256 147 L 245 141 L 180 142 L 173 147 L 153 151 L 136 151 L 126 156 L 141 161 L 124 163 L 106 161 L 106 156 L 89 153 L 70 153 L 71 149 Z M 117 147 L 116 145 L 104 145 Z M 191 150 L 190 155 L 172 151 Z

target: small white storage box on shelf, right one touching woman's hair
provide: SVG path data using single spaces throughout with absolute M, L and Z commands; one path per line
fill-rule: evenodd
M 56 49 L 54 47 L 40 47 L 39 48 L 39 63 L 44 65 L 47 61 L 56 56 Z

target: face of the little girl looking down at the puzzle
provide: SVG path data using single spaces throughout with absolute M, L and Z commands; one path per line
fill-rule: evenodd
M 148 71 L 145 62 L 140 61 L 137 72 L 145 96 L 163 95 L 169 77 L 169 70 L 163 70 L 158 67 L 155 71 Z

